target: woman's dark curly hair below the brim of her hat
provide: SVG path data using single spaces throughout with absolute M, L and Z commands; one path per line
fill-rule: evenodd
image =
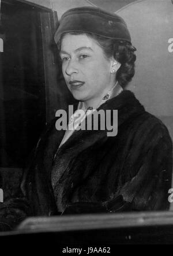
M 125 40 L 104 38 L 103 36 L 85 33 L 85 32 L 69 32 L 71 35 L 86 34 L 89 38 L 92 38 L 101 47 L 106 58 L 114 57 L 116 61 L 121 64 L 121 67 L 116 72 L 116 80 L 124 88 L 134 76 L 134 62 L 136 61 L 136 48 L 131 45 L 130 42 Z M 65 34 L 61 36 L 58 42 L 58 48 L 61 47 L 61 41 Z

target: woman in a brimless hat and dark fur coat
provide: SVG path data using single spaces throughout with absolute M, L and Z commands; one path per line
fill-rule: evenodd
M 96 8 L 70 9 L 55 42 L 66 85 L 79 103 L 66 131 L 58 131 L 59 116 L 37 144 L 21 185 L 29 215 L 168 209 L 171 138 L 124 90 L 136 61 L 125 21 Z M 118 110 L 116 136 L 101 129 L 101 117 L 98 129 L 78 129 L 99 110 L 114 113 L 111 124 Z

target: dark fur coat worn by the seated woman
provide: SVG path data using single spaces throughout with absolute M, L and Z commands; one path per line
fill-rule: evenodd
M 168 209 L 172 142 L 165 125 L 130 91 L 99 109 L 118 110 L 116 136 L 74 131 L 58 149 L 65 131 L 57 131 L 56 120 L 48 125 L 21 185 L 22 197 L 31 206 L 29 215 L 50 216 L 65 209 L 71 213 Z

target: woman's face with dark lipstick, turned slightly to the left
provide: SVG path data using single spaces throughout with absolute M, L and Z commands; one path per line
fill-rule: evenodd
M 61 42 L 62 72 L 73 97 L 84 101 L 87 106 L 94 102 L 115 84 L 117 62 L 108 60 L 101 47 L 86 34 L 63 36 Z

